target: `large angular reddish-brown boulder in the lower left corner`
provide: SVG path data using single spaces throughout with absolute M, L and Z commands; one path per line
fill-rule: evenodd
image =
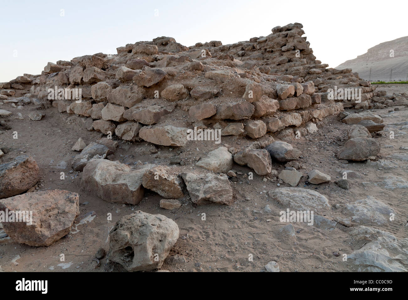
M 0 200 L 0 211 L 6 209 L 26 212 L 26 222 L 2 223 L 14 241 L 35 247 L 49 246 L 71 230 L 79 215 L 79 196 L 58 189 L 25 193 Z M 27 220 L 29 212 L 31 220 Z

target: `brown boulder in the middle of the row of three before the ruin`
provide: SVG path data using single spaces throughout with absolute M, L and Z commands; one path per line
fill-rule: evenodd
M 173 173 L 173 170 L 166 166 L 148 169 L 143 175 L 143 187 L 167 199 L 182 198 L 184 196 L 183 182 Z

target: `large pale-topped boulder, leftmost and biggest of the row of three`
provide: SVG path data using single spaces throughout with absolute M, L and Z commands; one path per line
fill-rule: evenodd
M 93 159 L 84 167 L 82 183 L 85 191 L 105 201 L 135 205 L 144 196 L 143 174 L 152 167 L 144 164 L 133 169 L 118 161 Z

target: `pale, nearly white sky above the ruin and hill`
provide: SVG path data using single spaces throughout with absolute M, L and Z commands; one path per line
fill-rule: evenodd
M 19 1 L 0 0 L 0 82 L 157 36 L 185 46 L 267 36 L 299 22 L 317 59 L 330 67 L 381 42 L 407 36 L 408 1 Z

